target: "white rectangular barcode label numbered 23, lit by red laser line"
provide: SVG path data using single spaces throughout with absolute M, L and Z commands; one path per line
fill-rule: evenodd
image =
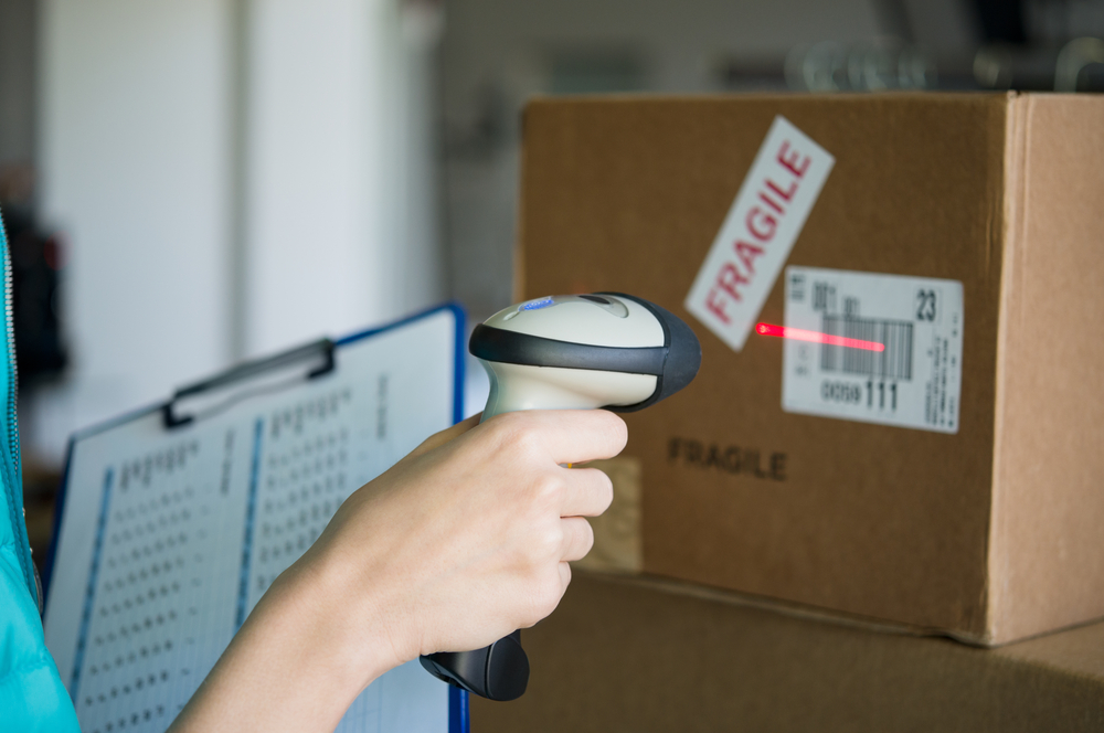
M 786 268 L 782 407 L 938 433 L 958 432 L 963 285 L 958 280 Z

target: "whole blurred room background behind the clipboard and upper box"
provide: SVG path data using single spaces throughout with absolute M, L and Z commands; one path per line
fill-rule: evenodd
M 74 429 L 509 305 L 532 95 L 1104 91 L 1101 39 L 1104 0 L 0 0 L 32 544 Z

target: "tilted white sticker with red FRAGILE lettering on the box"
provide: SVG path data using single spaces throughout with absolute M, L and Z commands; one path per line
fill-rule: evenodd
M 743 349 L 835 162 L 774 118 L 684 302 L 733 350 Z

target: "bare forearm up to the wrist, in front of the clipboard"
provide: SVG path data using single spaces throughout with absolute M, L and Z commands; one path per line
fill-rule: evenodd
M 400 661 L 371 609 L 361 603 L 346 613 L 341 586 L 318 557 L 288 569 L 169 730 L 332 731 L 361 690 Z

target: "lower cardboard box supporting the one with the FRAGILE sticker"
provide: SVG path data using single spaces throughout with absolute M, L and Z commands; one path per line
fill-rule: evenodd
M 977 649 L 688 593 L 576 573 L 522 633 L 529 690 L 473 698 L 471 730 L 1104 730 L 1101 624 Z

